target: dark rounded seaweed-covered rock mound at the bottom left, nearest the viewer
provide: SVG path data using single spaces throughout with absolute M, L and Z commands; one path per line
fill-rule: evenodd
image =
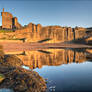
M 0 88 L 13 89 L 14 92 L 44 92 L 46 84 L 37 72 L 16 68 L 4 74 L 5 80 Z

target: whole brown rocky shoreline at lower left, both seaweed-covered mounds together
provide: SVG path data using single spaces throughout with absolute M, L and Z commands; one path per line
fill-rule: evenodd
M 12 89 L 14 92 L 45 92 L 46 82 L 32 70 L 23 69 L 22 61 L 15 55 L 4 55 L 0 51 L 0 89 Z

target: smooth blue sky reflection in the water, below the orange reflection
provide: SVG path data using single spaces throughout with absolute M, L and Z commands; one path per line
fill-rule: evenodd
M 92 91 L 92 63 L 63 64 L 60 66 L 43 66 L 34 69 L 48 79 L 48 90 L 52 92 L 88 92 Z M 55 88 L 53 88 L 55 86 Z

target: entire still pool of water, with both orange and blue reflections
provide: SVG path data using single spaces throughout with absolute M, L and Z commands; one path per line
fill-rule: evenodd
M 47 92 L 92 92 L 91 49 L 43 49 L 16 54 L 47 81 Z

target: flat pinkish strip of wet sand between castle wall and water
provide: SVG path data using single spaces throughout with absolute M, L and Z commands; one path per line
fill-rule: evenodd
M 18 42 L 0 42 L 5 51 L 29 51 L 49 48 L 92 48 L 90 45 L 84 44 L 68 44 L 68 43 L 18 43 Z

